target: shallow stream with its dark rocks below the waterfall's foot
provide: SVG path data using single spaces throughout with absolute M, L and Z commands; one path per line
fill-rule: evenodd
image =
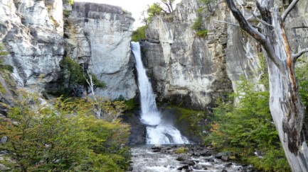
M 164 171 L 255 171 L 253 166 L 241 165 L 223 158 L 223 154 L 200 146 L 185 146 L 187 153 L 177 154 L 181 145 L 139 145 L 132 146 L 134 172 Z M 182 147 L 183 148 L 183 147 Z

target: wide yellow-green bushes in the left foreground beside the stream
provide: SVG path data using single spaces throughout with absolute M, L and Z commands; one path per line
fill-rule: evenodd
M 16 171 L 124 171 L 130 154 L 124 146 L 129 127 L 92 115 L 85 99 L 58 98 L 41 105 L 35 94 L 21 93 L 9 118 L 0 119 L 0 161 Z M 112 108 L 112 107 L 110 107 Z

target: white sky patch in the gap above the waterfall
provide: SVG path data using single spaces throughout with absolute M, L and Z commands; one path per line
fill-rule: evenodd
M 121 6 L 125 10 L 132 13 L 132 17 L 135 19 L 134 28 L 137 28 L 142 25 L 140 23 L 140 13 L 142 10 L 147 8 L 148 4 L 153 4 L 154 2 L 158 2 L 160 0 L 75 0 L 75 1 L 87 1 L 87 2 L 95 2 L 100 4 L 110 4 L 114 6 Z M 176 0 L 176 3 L 179 3 L 181 0 Z M 175 8 L 176 6 L 174 6 Z

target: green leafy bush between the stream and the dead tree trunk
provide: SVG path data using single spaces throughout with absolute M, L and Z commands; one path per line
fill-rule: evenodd
M 238 93 L 230 95 L 236 106 L 232 101 L 217 102 L 206 142 L 224 151 L 237 152 L 240 159 L 263 171 L 290 171 L 271 122 L 269 92 L 258 90 L 256 85 L 242 79 Z M 255 151 L 260 152 L 259 157 Z

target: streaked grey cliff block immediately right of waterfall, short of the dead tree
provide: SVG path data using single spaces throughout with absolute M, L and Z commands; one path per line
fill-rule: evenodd
M 149 41 L 144 42 L 144 50 L 160 100 L 205 108 L 215 97 L 230 93 L 232 86 L 225 64 L 227 26 L 208 20 L 207 38 L 196 36 L 191 26 L 198 8 L 198 1 L 184 0 L 174 13 L 154 18 L 147 30 Z M 223 10 L 211 16 L 223 18 Z

